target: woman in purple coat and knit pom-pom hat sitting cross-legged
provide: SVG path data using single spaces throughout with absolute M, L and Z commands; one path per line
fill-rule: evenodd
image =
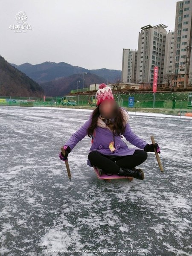
M 125 108 L 116 103 L 111 88 L 100 84 L 96 92 L 97 107 L 89 119 L 67 140 L 64 145 L 65 156 L 59 154 L 61 160 L 68 160 L 68 154 L 86 135 L 92 138 L 87 165 L 97 166 L 105 174 L 144 179 L 142 169 L 135 166 L 145 162 L 147 152 L 160 153 L 157 143 L 149 144 L 131 130 L 129 115 Z M 123 136 L 137 148 L 129 148 L 122 140 Z M 140 148 L 140 149 L 139 149 Z

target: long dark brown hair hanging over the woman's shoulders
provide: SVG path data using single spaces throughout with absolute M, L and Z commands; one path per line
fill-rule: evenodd
M 96 128 L 97 126 L 97 119 L 99 118 L 100 112 L 99 112 L 99 106 L 97 106 L 96 109 L 94 109 L 93 114 L 92 114 L 92 120 L 91 120 L 91 124 L 89 126 L 89 128 L 87 129 L 87 135 L 89 137 L 91 137 L 93 135 L 93 130 Z M 114 118 L 114 122 L 113 122 L 113 134 L 115 136 L 119 136 L 120 134 L 124 134 L 125 132 L 125 125 L 124 125 L 125 119 L 122 115 L 122 111 L 119 108 L 119 113 L 118 115 Z M 116 132 L 114 132 L 116 131 Z

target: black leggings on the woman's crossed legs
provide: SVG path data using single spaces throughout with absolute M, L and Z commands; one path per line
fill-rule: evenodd
M 88 154 L 88 159 L 91 164 L 99 167 L 105 173 L 110 172 L 117 174 L 121 167 L 133 168 L 145 162 L 148 154 L 143 149 L 136 149 L 134 154 L 127 156 L 110 156 L 101 154 L 99 151 L 93 150 Z M 116 161 L 116 163 L 115 163 Z

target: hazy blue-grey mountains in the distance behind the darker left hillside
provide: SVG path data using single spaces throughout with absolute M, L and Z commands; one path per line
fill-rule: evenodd
M 10 64 L 40 84 L 47 96 L 63 96 L 70 93 L 70 90 L 77 89 L 77 85 L 78 89 L 82 89 L 83 73 L 87 73 L 84 74 L 84 88 L 89 87 L 90 84 L 114 83 L 121 77 L 120 70 L 105 68 L 88 70 L 65 62 L 46 61 L 36 65 L 30 63 Z M 77 81 L 80 82 L 77 83 Z

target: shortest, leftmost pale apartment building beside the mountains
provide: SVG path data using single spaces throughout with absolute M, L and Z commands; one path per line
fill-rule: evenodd
M 122 55 L 122 77 L 123 83 L 136 83 L 137 51 L 133 49 L 123 49 Z

